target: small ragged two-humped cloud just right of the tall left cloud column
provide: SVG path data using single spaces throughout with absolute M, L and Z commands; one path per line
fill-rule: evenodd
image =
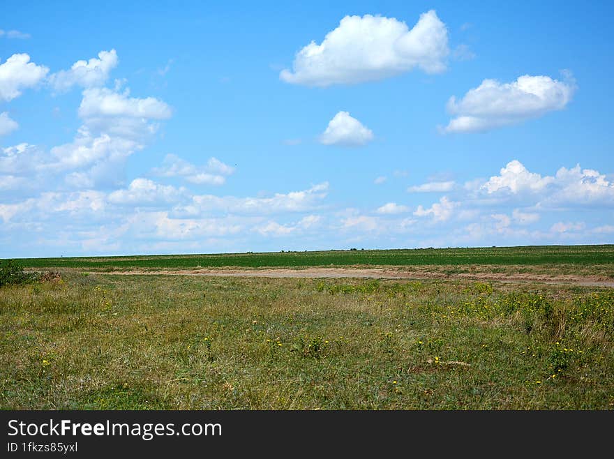
M 172 153 L 165 156 L 162 167 L 153 169 L 153 173 L 158 176 L 179 176 L 197 185 L 223 185 L 226 181 L 226 176 L 233 172 L 234 167 L 222 163 L 217 158 L 209 158 L 207 165 L 195 166 Z

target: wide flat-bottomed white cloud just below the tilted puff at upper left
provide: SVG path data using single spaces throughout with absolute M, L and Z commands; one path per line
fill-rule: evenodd
M 128 91 L 117 93 L 107 88 L 90 88 L 83 91 L 79 116 L 167 119 L 171 116 L 171 109 L 165 102 L 153 97 L 130 98 Z

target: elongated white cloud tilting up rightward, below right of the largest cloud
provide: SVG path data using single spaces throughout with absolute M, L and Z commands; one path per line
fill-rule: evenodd
M 457 101 L 454 96 L 449 99 L 447 110 L 456 117 L 443 131 L 490 130 L 562 110 L 576 90 L 575 83 L 567 76 L 568 82 L 541 75 L 523 75 L 511 83 L 484 80 L 477 88 L 467 91 L 461 100 Z

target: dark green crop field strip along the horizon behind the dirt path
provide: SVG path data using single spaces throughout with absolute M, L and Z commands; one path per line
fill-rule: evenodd
M 328 250 L 319 252 L 24 258 L 26 268 L 195 269 L 214 267 L 614 264 L 614 245 Z

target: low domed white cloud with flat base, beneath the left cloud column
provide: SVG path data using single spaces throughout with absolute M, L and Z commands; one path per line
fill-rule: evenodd
M 125 190 L 115 190 L 108 200 L 120 205 L 159 205 L 177 202 L 186 193 L 184 188 L 160 185 L 149 179 L 134 179 Z

